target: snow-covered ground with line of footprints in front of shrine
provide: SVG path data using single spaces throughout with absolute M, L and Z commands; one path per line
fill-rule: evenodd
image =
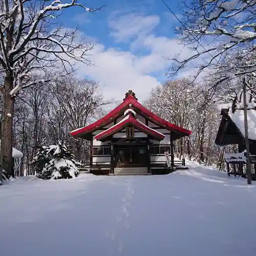
M 0 255 L 255 255 L 255 184 L 188 164 L 166 176 L 16 179 L 0 188 Z

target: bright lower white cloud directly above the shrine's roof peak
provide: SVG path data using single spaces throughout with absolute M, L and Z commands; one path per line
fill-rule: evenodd
M 97 66 L 81 67 L 79 74 L 100 81 L 107 98 L 120 100 L 128 90 L 133 90 L 140 100 L 144 100 L 151 89 L 157 86 L 155 77 L 136 69 L 134 62 L 139 57 L 131 52 L 104 49 L 98 45 L 92 54 Z

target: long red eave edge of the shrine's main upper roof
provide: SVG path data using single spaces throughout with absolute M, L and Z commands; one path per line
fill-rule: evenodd
M 146 116 L 148 116 L 150 119 L 152 119 L 152 121 L 157 122 L 159 125 L 162 124 L 163 129 L 167 128 L 167 130 L 172 130 L 172 131 L 176 131 L 178 133 L 181 133 L 185 136 L 189 136 L 191 134 L 191 131 L 186 130 L 182 127 L 179 127 L 173 123 L 169 123 L 167 121 L 165 121 L 164 119 L 158 117 L 157 115 L 155 115 L 153 112 L 151 112 L 150 110 L 147 110 L 142 104 L 140 104 L 132 95 L 129 95 L 120 105 L 118 105 L 114 110 L 112 110 L 108 115 L 105 115 L 104 117 L 102 117 L 101 119 L 97 120 L 96 122 L 89 124 L 88 126 L 85 127 L 81 127 L 80 129 L 77 129 L 73 132 L 71 132 L 70 134 L 72 136 L 76 136 L 82 133 L 92 133 L 94 131 L 97 131 L 100 129 L 100 127 L 108 125 L 109 123 L 111 123 L 112 121 L 114 121 L 114 119 L 117 117 L 117 114 L 123 109 L 125 108 L 127 105 L 129 104 L 133 104 L 133 106 L 135 108 L 138 108 L 142 113 L 144 113 Z

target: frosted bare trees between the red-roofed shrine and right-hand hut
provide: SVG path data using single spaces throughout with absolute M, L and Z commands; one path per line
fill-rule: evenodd
M 208 82 L 203 82 L 206 87 L 202 90 L 201 84 L 187 79 L 167 81 L 152 91 L 145 105 L 162 118 L 192 131 L 189 137 L 176 142 L 177 157 L 187 156 L 201 164 L 219 163 L 222 168 L 224 153 L 215 145 L 220 118 L 212 109 L 215 101 L 208 100 Z

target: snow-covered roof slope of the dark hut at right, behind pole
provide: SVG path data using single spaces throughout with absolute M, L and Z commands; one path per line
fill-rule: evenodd
M 230 109 L 228 115 L 231 118 L 232 122 L 237 125 L 242 135 L 245 136 L 244 111 L 236 110 L 234 113 L 232 113 Z M 247 110 L 247 119 L 249 139 L 256 140 L 256 111 L 253 109 Z

